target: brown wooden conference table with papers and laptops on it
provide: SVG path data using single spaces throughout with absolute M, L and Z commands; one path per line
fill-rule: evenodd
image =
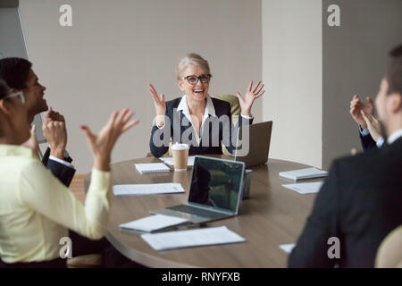
M 188 200 L 191 169 L 141 175 L 135 163 L 156 163 L 141 158 L 112 164 L 112 184 L 180 182 L 186 193 L 153 196 L 113 197 L 106 238 L 124 256 L 149 267 L 286 267 L 288 254 L 279 247 L 295 243 L 314 204 L 315 194 L 298 194 L 282 184 L 293 183 L 279 172 L 308 167 L 289 161 L 270 159 L 268 164 L 251 168 L 250 198 L 243 200 L 239 215 L 207 223 L 207 227 L 226 225 L 247 241 L 235 244 L 156 251 L 140 234 L 121 231 L 119 224 L 149 215 L 153 209 L 174 206 Z M 88 190 L 89 174 L 85 179 Z M 322 180 L 306 180 L 322 181 Z

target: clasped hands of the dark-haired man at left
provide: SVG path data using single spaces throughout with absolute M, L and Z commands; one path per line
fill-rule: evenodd
M 54 112 L 50 107 L 43 116 L 42 131 L 50 145 L 50 155 L 63 159 L 64 150 L 67 146 L 67 129 L 64 116 Z

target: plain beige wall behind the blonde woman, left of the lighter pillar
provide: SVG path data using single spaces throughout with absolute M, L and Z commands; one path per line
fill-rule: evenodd
M 72 27 L 59 7 L 72 6 Z M 262 78 L 261 0 L 20 0 L 29 58 L 46 99 L 66 117 L 68 150 L 78 172 L 92 159 L 81 124 L 99 130 L 113 109 L 130 107 L 141 124 L 123 135 L 113 161 L 146 156 L 154 105 L 147 84 L 172 99 L 175 67 L 203 55 L 214 75 L 210 93 L 244 92 Z M 253 114 L 262 120 L 262 101 Z

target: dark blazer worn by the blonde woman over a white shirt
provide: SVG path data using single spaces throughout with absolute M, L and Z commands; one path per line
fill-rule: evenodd
M 231 122 L 231 112 L 230 112 L 230 104 L 226 101 L 220 100 L 220 99 L 216 99 L 211 97 L 213 104 L 214 104 L 214 109 L 215 109 L 215 115 L 217 116 L 217 118 L 220 118 L 222 115 L 227 115 L 228 119 L 229 119 L 229 126 L 232 126 L 232 122 Z M 171 101 L 166 102 L 166 114 L 165 116 L 167 116 L 170 120 L 170 124 L 168 124 L 168 122 L 165 122 L 165 125 L 163 126 L 163 128 L 158 129 L 156 125 L 154 125 L 152 127 L 152 131 L 151 131 L 151 138 L 149 140 L 149 148 L 151 150 L 152 155 L 154 155 L 155 157 L 160 157 L 163 156 L 163 154 L 165 154 L 168 149 L 169 149 L 169 142 L 170 139 L 173 139 L 173 143 L 175 142 L 179 142 L 179 143 L 187 143 L 188 146 L 190 147 L 188 150 L 188 155 L 197 155 L 197 154 L 222 154 L 222 138 L 223 138 L 223 133 L 225 133 L 225 137 L 224 138 L 237 138 L 237 133 L 236 134 L 232 134 L 231 132 L 231 128 L 228 130 L 229 133 L 226 132 L 226 130 L 223 130 L 222 128 L 222 122 L 219 122 L 217 118 L 213 118 L 211 115 L 209 115 L 209 120 L 211 121 L 208 125 L 209 125 L 209 132 L 208 134 L 204 134 L 202 135 L 201 141 L 199 142 L 199 146 L 197 145 L 197 141 L 196 139 L 192 138 L 192 134 L 191 131 L 195 132 L 195 130 L 193 129 L 193 126 L 191 125 L 191 122 L 188 122 L 186 116 L 183 114 L 182 111 L 174 111 L 173 109 L 177 108 L 180 104 L 180 100 L 181 97 L 173 99 Z M 180 124 L 180 122 L 182 122 Z M 183 124 L 184 122 L 184 124 Z M 247 125 L 247 124 L 251 124 L 253 122 L 253 119 L 245 119 L 242 118 L 242 116 L 239 116 L 239 122 L 237 124 L 236 127 L 240 126 L 241 124 L 243 125 Z M 177 124 L 177 126 L 174 128 L 173 124 Z M 188 123 L 188 124 L 187 124 Z M 216 124 L 216 125 L 215 125 Z M 214 130 L 214 128 L 212 126 L 219 126 L 219 142 L 218 144 L 214 144 L 213 145 L 213 139 L 212 139 L 212 132 Z M 204 127 L 205 128 L 205 127 Z M 168 129 L 168 130 L 166 130 Z M 191 129 L 191 130 L 189 130 Z M 235 129 L 237 130 L 237 128 Z M 168 132 L 170 133 L 170 137 L 169 138 L 164 138 L 164 132 Z M 185 132 L 185 133 L 184 133 Z M 183 135 L 184 133 L 184 135 Z M 183 139 L 181 138 L 183 135 Z M 188 136 L 187 136 L 188 135 Z M 207 136 L 209 135 L 209 136 Z M 156 147 L 154 144 L 154 140 L 153 138 L 155 137 L 155 139 L 159 139 L 161 141 L 163 141 L 163 146 L 161 147 Z M 204 143 L 203 143 L 204 140 Z M 205 144 L 205 140 L 208 140 L 208 144 Z M 234 144 L 232 144 L 234 143 Z M 226 145 L 225 147 L 228 149 L 228 151 L 230 153 L 233 153 L 234 149 L 235 149 L 235 142 L 232 142 L 232 140 L 230 140 L 230 144 Z M 205 146 L 203 146 L 205 145 Z

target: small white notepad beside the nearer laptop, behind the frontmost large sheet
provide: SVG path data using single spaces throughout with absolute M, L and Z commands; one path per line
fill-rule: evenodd
M 121 223 L 120 227 L 125 230 L 151 232 L 186 222 L 188 222 L 188 219 L 185 218 L 155 214 L 140 218 L 130 223 Z

